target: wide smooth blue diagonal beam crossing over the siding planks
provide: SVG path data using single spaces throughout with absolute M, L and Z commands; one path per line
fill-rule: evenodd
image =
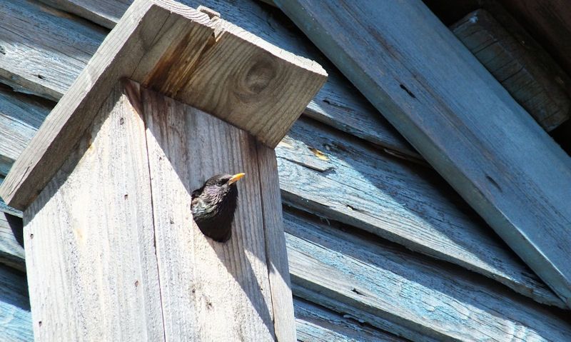
M 571 306 L 571 159 L 422 1 L 276 4 Z

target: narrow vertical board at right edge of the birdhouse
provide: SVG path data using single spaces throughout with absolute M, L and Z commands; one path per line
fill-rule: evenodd
M 295 341 L 288 252 L 285 248 L 283 216 L 276 152 L 257 143 L 262 217 L 266 238 L 266 262 L 272 295 L 277 341 Z

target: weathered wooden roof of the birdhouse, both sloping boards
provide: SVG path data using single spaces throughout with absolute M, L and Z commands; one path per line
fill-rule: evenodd
M 14 172 L 6 177 L 0 196 L 9 205 L 25 208 L 37 196 L 93 119 L 106 91 L 121 76 L 130 76 L 171 95 L 180 92 L 181 97 L 191 99 L 186 88 L 189 84 L 195 87 L 193 89 L 211 86 L 204 77 L 206 74 L 198 71 L 211 72 L 210 57 L 218 60 L 226 56 L 231 52 L 228 49 L 236 47 L 226 41 L 238 42 L 241 49 L 247 49 L 248 56 L 255 58 L 236 59 L 235 63 L 228 64 L 225 71 L 234 73 L 228 77 L 233 81 L 226 82 L 224 87 L 233 91 L 216 93 L 210 99 L 218 106 L 208 109 L 269 146 L 278 143 L 325 81 L 325 71 L 318 64 L 259 40 L 248 44 L 247 39 L 253 38 L 247 32 L 221 20 L 213 23 L 206 14 L 173 1 L 138 0 L 124 18 L 103 41 L 75 86 L 58 102 L 43 129 L 16 161 Z M 216 41 L 220 44 L 213 41 L 215 24 L 218 25 Z M 207 45 L 208 53 L 203 51 Z M 194 64 L 201 54 L 208 57 L 201 59 L 196 69 Z M 174 66 L 180 68 L 177 74 L 180 77 L 176 80 L 165 76 Z M 166 87 L 166 84 L 174 84 L 174 87 Z M 276 96 L 278 89 L 283 91 L 280 96 Z M 262 100 L 268 99 L 265 97 L 268 94 L 276 99 L 273 105 Z M 198 108 L 206 106 L 198 102 Z M 283 119 L 276 119 L 277 114 Z M 261 121 L 271 123 L 268 130 L 261 131 Z

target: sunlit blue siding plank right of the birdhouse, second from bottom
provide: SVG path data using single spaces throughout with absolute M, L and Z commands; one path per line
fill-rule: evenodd
M 486 278 L 400 246 L 284 216 L 296 296 L 303 296 L 295 290 L 303 286 L 440 341 L 565 341 L 570 336 L 571 324 L 555 310 Z M 375 325 L 368 316 L 359 318 Z

